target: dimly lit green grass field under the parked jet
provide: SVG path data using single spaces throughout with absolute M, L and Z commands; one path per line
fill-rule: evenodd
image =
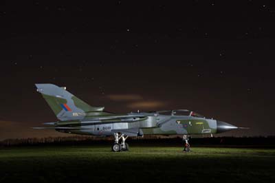
M 275 182 L 275 149 L 10 147 L 0 182 Z

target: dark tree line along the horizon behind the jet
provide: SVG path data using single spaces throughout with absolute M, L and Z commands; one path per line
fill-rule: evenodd
M 142 145 L 180 145 L 183 143 L 181 136 L 144 136 L 131 137 L 127 139 L 129 144 Z M 199 146 L 208 145 L 239 145 L 239 146 L 266 146 L 275 147 L 275 136 L 257 137 L 206 137 L 190 138 L 190 144 Z M 45 138 L 20 138 L 5 139 L 0 141 L 0 147 L 13 146 L 45 146 L 45 145 L 101 145 L 112 144 L 113 137 L 95 136 L 67 136 L 67 137 L 45 137 Z

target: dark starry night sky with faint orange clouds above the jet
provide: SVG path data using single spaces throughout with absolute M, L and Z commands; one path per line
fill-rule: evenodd
M 61 136 L 34 83 L 107 111 L 191 109 L 275 135 L 269 1 L 1 1 L 0 139 Z

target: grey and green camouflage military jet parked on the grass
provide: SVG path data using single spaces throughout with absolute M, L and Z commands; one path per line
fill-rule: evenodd
M 65 87 L 52 84 L 36 84 L 58 121 L 45 122 L 50 127 L 34 129 L 55 129 L 63 133 L 76 133 L 91 136 L 114 136 L 113 151 L 127 151 L 125 142 L 128 136 L 144 135 L 183 135 L 184 151 L 190 151 L 188 136 L 210 134 L 239 129 L 227 122 L 205 118 L 194 111 L 177 109 L 170 111 L 131 112 L 113 114 L 104 107 L 92 107 Z M 120 140 L 122 139 L 122 140 Z

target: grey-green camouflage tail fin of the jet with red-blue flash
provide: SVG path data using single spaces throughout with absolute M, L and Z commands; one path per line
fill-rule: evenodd
M 92 107 L 73 94 L 66 91 L 65 87 L 53 84 L 35 84 L 37 92 L 41 93 L 48 105 L 59 120 L 78 120 L 87 114 L 100 116 L 104 114 L 104 107 Z

